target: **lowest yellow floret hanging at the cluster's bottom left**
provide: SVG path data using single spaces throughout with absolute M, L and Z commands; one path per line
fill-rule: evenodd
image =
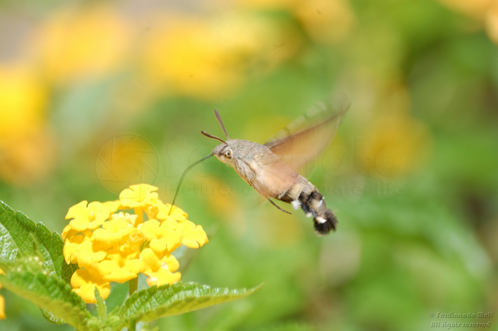
M 78 269 L 71 277 L 71 286 L 73 291 L 78 294 L 87 304 L 95 304 L 94 288 L 97 287 L 102 299 L 107 299 L 111 293 L 111 285 L 103 280 L 97 271 L 89 272 L 85 269 Z

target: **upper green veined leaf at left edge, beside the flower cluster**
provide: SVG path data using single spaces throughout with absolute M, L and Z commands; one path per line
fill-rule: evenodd
M 43 224 L 35 224 L 20 212 L 0 201 L 0 266 L 9 269 L 19 258 L 32 255 L 43 257 L 43 268 L 49 275 L 69 284 L 77 269 L 66 264 L 62 254 L 64 241 L 57 232 Z

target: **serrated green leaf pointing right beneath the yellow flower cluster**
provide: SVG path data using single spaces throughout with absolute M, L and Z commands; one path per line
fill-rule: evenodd
M 229 290 L 195 283 L 152 286 L 131 295 L 119 311 L 124 325 L 129 321 L 152 321 L 158 318 L 188 313 L 245 298 L 260 286 L 252 289 Z

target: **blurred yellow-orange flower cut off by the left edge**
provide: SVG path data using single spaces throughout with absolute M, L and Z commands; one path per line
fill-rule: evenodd
M 52 168 L 54 142 L 46 125 L 48 92 L 32 68 L 0 64 L 0 178 L 32 183 Z

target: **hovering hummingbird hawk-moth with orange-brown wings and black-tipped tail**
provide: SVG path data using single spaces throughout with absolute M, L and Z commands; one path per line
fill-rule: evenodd
M 290 203 L 294 209 L 301 208 L 307 217 L 313 216 L 315 232 L 324 235 L 335 230 L 337 219 L 327 209 L 317 188 L 296 170 L 316 159 L 329 144 L 348 108 L 349 101 L 344 96 L 318 103 L 264 145 L 228 138 L 217 110 L 215 114 L 227 140 L 201 132 L 223 142 L 213 149 L 212 155 L 234 167 L 243 180 L 276 208 L 286 212 L 270 198 Z

